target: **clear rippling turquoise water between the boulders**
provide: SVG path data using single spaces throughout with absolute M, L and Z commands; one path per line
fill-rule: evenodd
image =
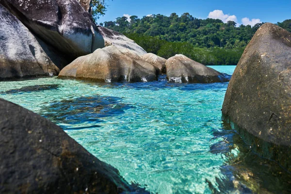
M 227 74 L 235 68 L 211 67 Z M 223 140 L 213 132 L 223 130 L 227 84 L 40 78 L 2 81 L 0 97 L 60 125 L 128 182 L 159 194 L 203 194 L 211 193 L 209 183 L 219 191 L 218 180 L 226 176 L 225 155 L 210 148 Z

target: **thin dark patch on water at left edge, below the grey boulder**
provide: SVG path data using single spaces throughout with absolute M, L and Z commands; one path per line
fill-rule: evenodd
M 31 85 L 25 86 L 19 89 L 8 90 L 5 92 L 0 92 L 1 95 L 6 94 L 23 94 L 23 93 L 32 93 L 32 92 L 41 92 L 45 90 L 55 90 L 58 89 L 58 84 L 50 84 L 50 85 Z

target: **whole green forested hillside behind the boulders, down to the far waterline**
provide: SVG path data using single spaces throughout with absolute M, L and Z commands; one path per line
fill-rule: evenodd
M 184 54 L 205 65 L 236 65 L 245 46 L 262 23 L 236 26 L 233 21 L 181 16 L 151 15 L 118 17 L 100 25 L 126 34 L 147 52 L 164 58 Z M 291 19 L 277 23 L 291 32 Z

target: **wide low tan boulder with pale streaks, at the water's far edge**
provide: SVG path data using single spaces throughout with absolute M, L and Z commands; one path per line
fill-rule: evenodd
M 139 64 L 115 46 L 97 49 L 92 54 L 77 58 L 62 69 L 59 77 L 102 82 L 157 80 L 153 66 Z

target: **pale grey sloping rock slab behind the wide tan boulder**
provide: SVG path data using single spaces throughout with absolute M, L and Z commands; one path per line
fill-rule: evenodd
M 133 40 L 129 39 L 122 33 L 115 32 L 102 26 L 98 26 L 98 30 L 104 38 L 106 47 L 113 45 L 119 49 L 130 49 L 141 57 L 146 54 L 146 51 L 142 47 L 140 47 Z

